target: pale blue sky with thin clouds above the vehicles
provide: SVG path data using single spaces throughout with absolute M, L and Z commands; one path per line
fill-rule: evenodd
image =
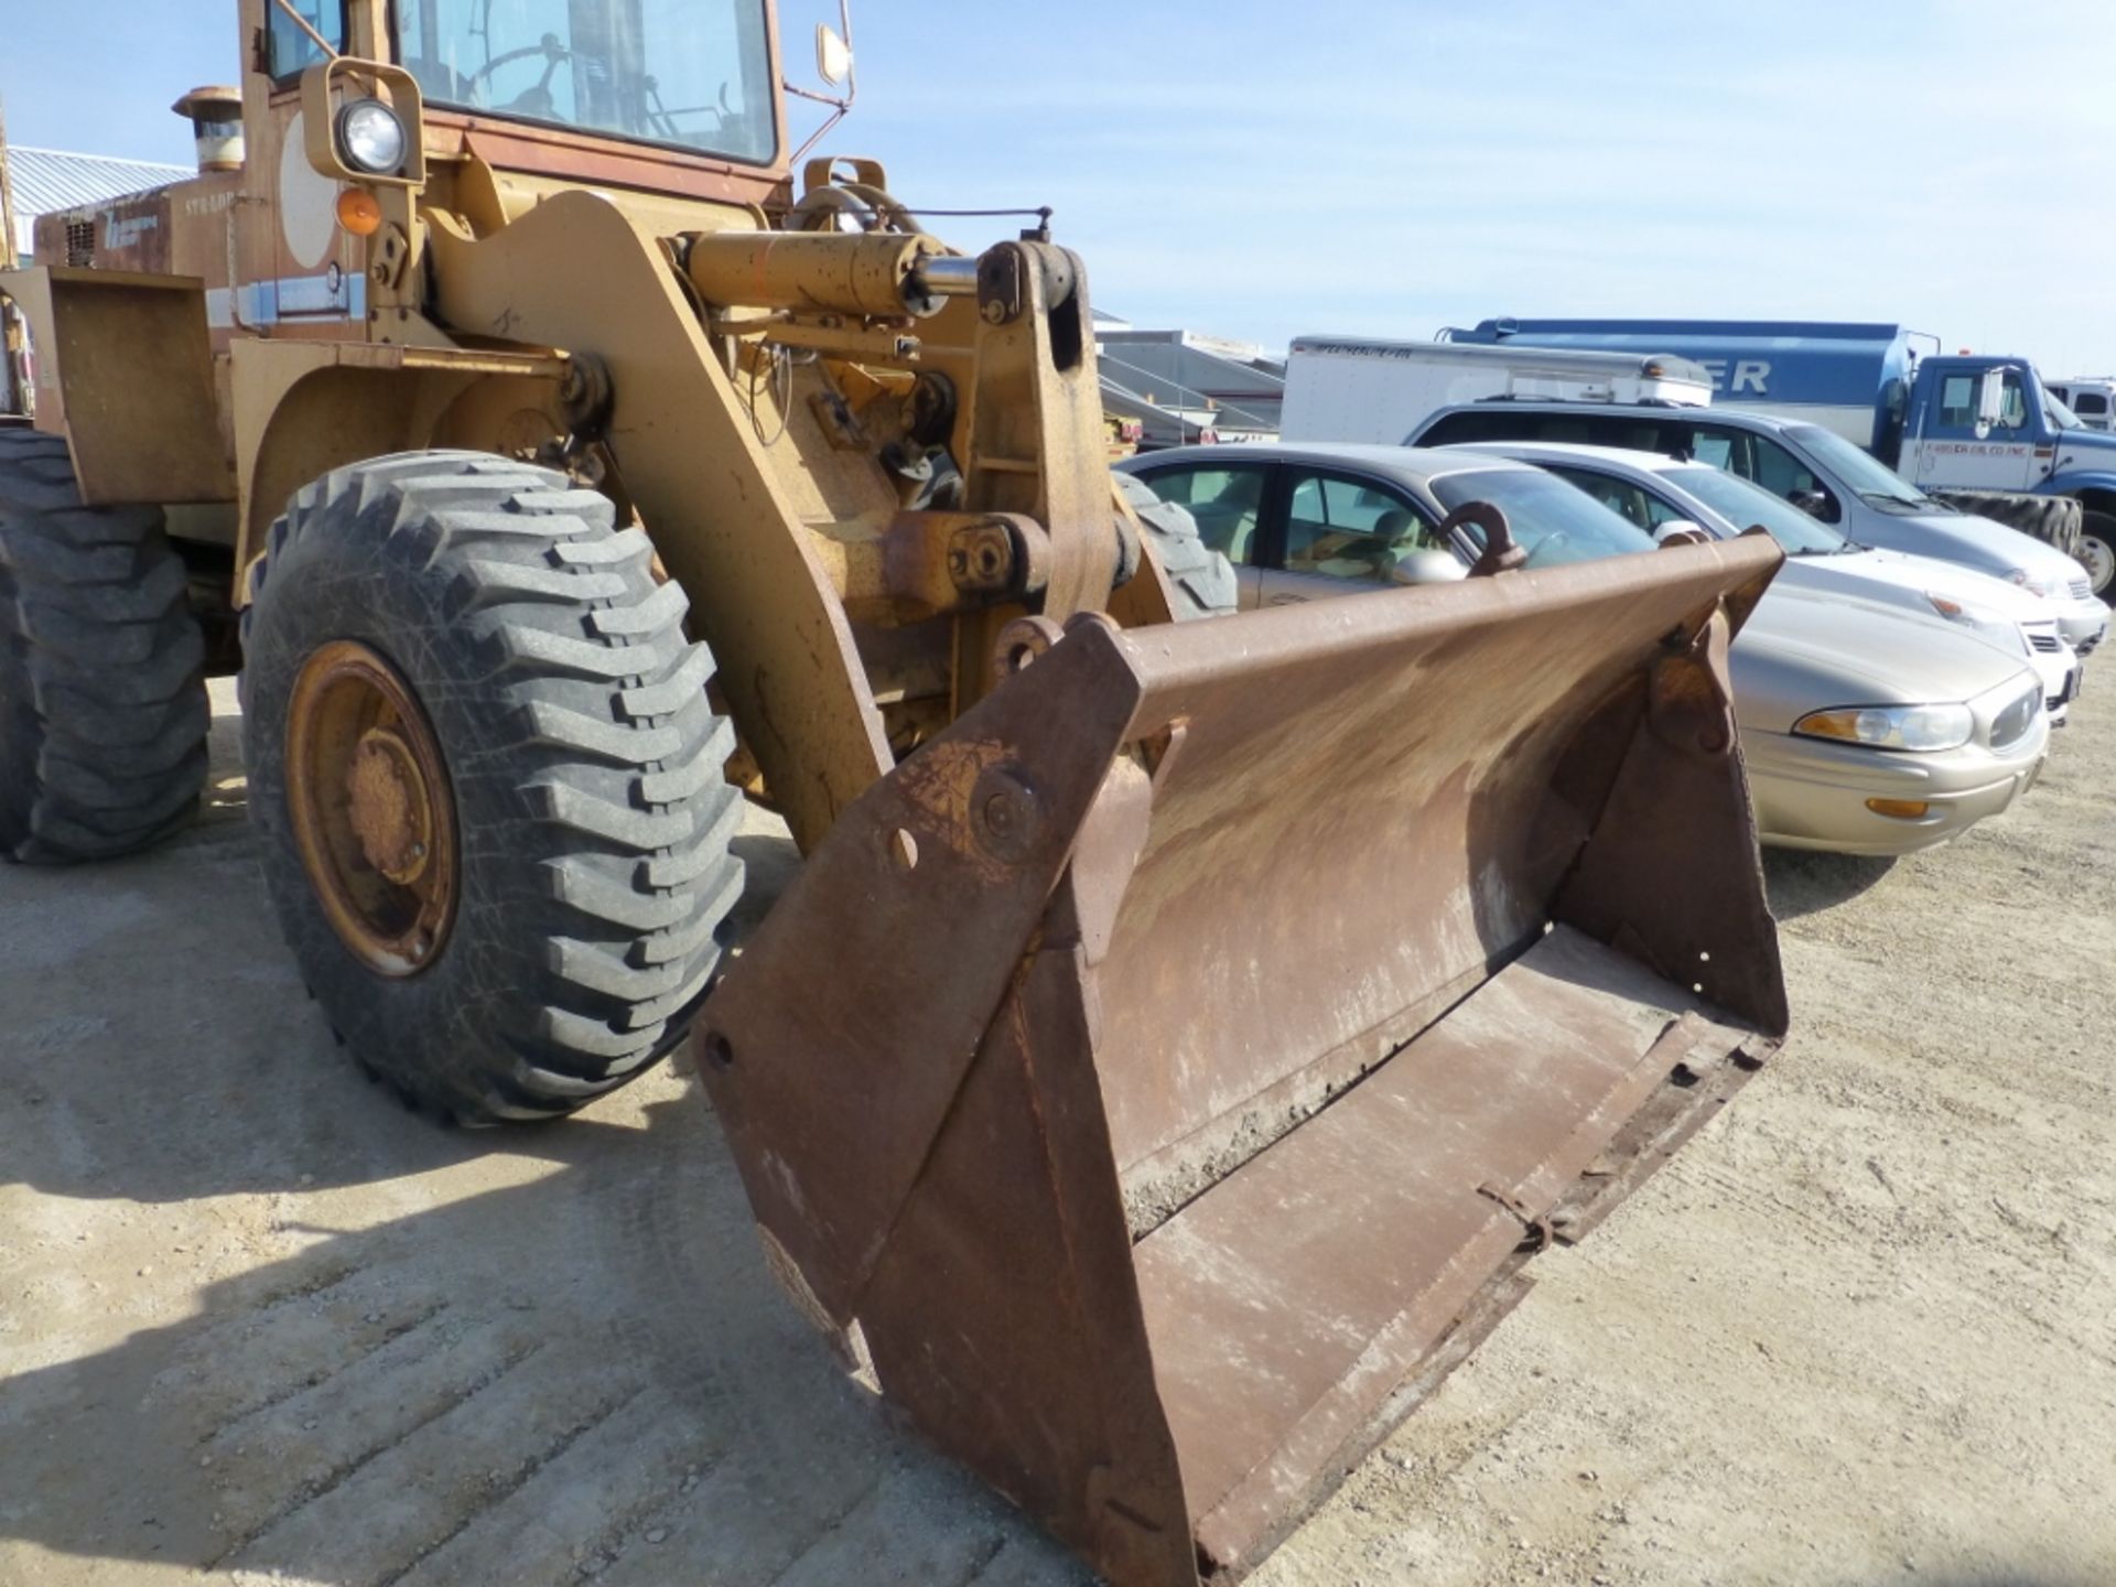
M 235 68 L 229 0 L 0 8 L 23 144 L 184 161 L 167 104 Z M 825 13 L 785 15 L 804 74 Z M 855 0 L 853 23 L 859 110 L 825 148 L 878 154 L 912 205 L 1054 205 L 1138 324 L 1282 347 L 1494 313 L 1892 320 L 2116 370 L 2116 0 Z

